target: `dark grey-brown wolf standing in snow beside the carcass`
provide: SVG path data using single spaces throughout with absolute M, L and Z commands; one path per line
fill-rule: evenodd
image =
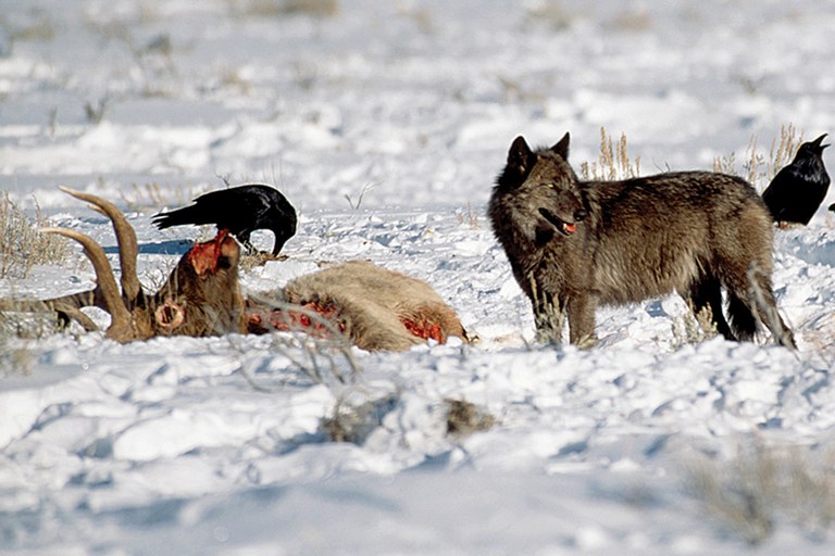
M 759 321 L 795 348 L 772 291 L 771 216 L 747 181 L 709 172 L 581 181 L 569 141 L 534 151 L 516 138 L 488 206 L 540 340 L 560 342 L 568 314 L 571 342 L 591 344 L 598 305 L 677 291 L 727 339 L 751 340 Z

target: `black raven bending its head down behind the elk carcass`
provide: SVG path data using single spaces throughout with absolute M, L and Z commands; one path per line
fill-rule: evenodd
M 159 229 L 184 224 L 214 224 L 227 229 L 251 253 L 249 242 L 254 230 L 266 229 L 275 235 L 273 255 L 296 233 L 296 210 L 277 189 L 263 184 L 247 184 L 210 191 L 194 200 L 194 204 L 153 216 Z

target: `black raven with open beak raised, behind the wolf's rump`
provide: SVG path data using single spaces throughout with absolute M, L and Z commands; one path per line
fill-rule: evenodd
M 821 144 L 826 134 L 800 146 L 792 164 L 781 169 L 762 193 L 777 224 L 809 224 L 826 197 L 830 175 L 823 166 Z

